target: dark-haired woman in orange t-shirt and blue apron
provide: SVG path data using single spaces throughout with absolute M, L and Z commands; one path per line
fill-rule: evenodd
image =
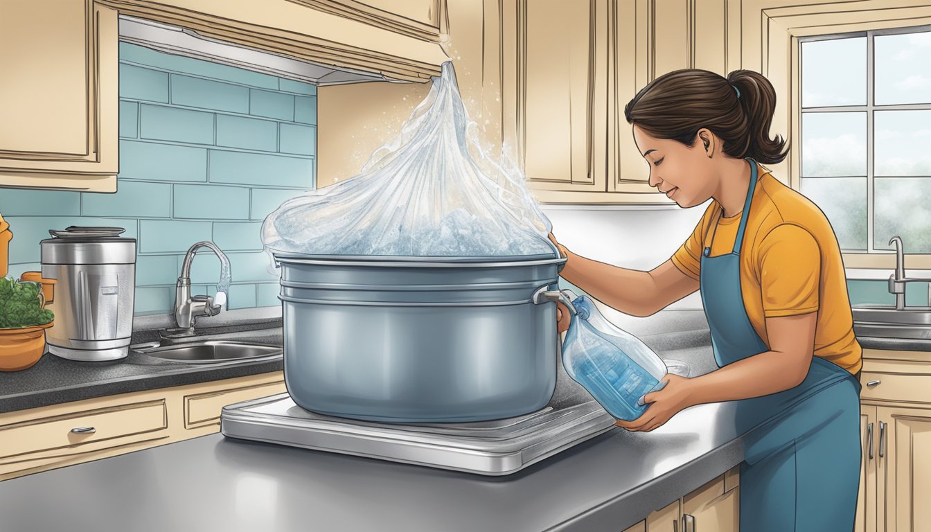
M 754 401 L 778 405 L 778 420 L 748 436 L 741 529 L 851 530 L 861 349 L 828 220 L 759 164 L 789 150 L 769 137 L 775 107 L 769 81 L 746 70 L 726 79 L 680 70 L 641 89 L 624 112 L 650 185 L 683 208 L 712 201 L 679 250 L 649 272 L 557 244 L 568 258 L 561 276 L 635 316 L 700 291 L 720 369 L 668 375 L 640 418 L 617 425 L 649 431 L 688 406 L 769 396 L 739 403 L 752 405 L 747 413 L 763 408 Z M 560 310 L 560 330 L 568 319 Z

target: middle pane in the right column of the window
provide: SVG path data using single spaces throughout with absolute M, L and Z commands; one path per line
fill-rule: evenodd
M 931 111 L 877 111 L 876 175 L 931 175 Z

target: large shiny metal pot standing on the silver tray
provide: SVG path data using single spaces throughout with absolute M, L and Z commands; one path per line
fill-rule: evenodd
M 533 412 L 553 395 L 556 305 L 540 294 L 557 289 L 565 259 L 275 258 L 285 384 L 307 410 L 479 421 Z

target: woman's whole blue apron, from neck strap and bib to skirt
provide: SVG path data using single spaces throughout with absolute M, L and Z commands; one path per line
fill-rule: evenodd
M 710 256 L 712 232 L 700 259 L 701 298 L 719 367 L 769 350 L 750 324 L 740 292 L 740 249 L 757 183 L 757 163 L 747 161 L 750 183 L 734 250 Z M 735 423 L 739 433 L 746 433 L 740 467 L 741 530 L 853 530 L 860 465 L 859 391 L 850 372 L 813 357 L 799 386 L 736 402 Z

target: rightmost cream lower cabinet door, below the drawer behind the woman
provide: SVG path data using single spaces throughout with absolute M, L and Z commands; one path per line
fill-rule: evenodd
M 876 457 L 885 473 L 885 532 L 931 529 L 931 408 L 877 410 L 884 424 Z

